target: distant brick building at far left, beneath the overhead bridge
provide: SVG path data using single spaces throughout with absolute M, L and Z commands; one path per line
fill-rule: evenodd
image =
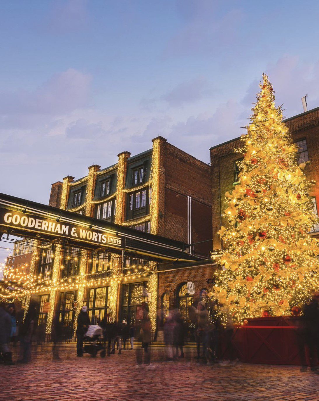
M 12 280 L 11 275 L 14 274 L 17 278 L 20 277 L 22 282 L 26 281 L 30 272 L 32 250 L 32 243 L 28 239 L 14 242 L 12 252 L 7 257 L 3 270 L 4 280 Z M 14 279 L 14 281 L 16 280 Z

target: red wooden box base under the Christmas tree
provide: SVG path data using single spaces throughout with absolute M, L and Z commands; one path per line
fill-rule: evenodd
M 297 318 L 298 319 L 298 318 Z M 233 346 L 238 358 L 246 363 L 304 365 L 299 355 L 301 338 L 290 316 L 249 319 L 235 328 Z M 308 358 L 307 358 L 308 359 Z

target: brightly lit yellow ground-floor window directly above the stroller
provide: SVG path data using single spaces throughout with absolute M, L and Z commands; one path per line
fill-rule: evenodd
M 88 316 L 92 324 L 98 324 L 108 316 L 110 294 L 108 287 L 91 288 L 88 295 Z

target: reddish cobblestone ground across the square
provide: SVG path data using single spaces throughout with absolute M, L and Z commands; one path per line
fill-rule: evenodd
M 52 362 L 50 346 L 38 346 L 29 365 L 0 365 L 0 400 L 319 400 L 319 375 L 299 367 L 198 364 L 186 358 L 164 362 L 152 348 L 156 369 L 136 369 L 135 350 L 91 358 L 75 356 L 75 344 Z M 16 355 L 14 355 L 16 358 Z

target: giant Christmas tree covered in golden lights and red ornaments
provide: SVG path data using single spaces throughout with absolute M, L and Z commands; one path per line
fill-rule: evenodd
M 225 194 L 229 227 L 219 231 L 223 271 L 213 287 L 221 316 L 231 313 L 239 323 L 265 310 L 290 314 L 319 289 L 319 248 L 308 234 L 317 224 L 312 183 L 297 162 L 267 75 L 260 87 L 243 148 L 236 150 L 243 154 L 240 182 Z

